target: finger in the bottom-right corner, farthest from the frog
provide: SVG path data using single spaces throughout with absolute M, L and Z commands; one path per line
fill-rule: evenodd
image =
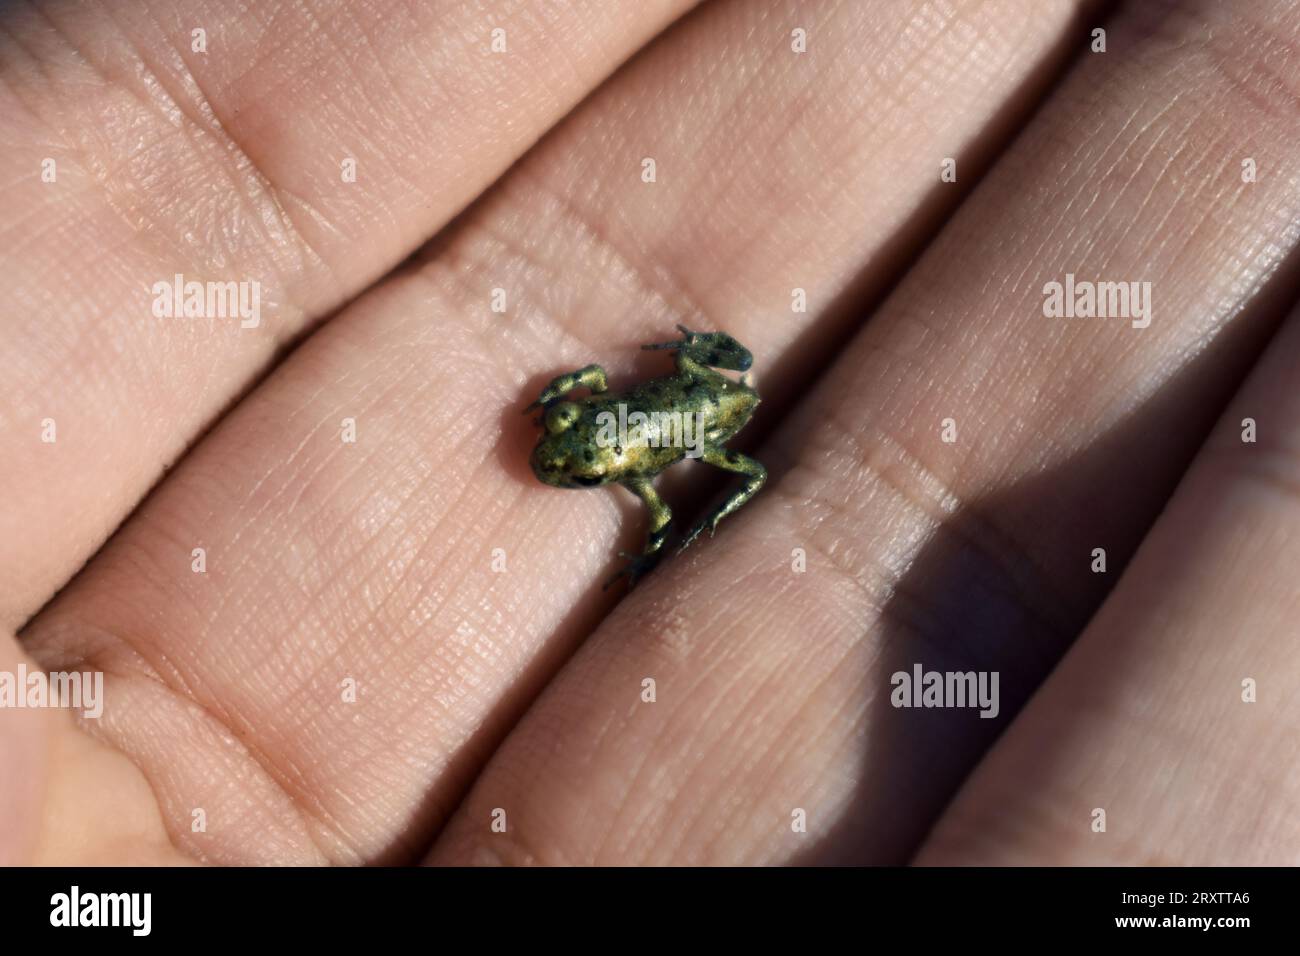
M 922 862 L 1300 857 L 1296 381 L 1300 312 Z

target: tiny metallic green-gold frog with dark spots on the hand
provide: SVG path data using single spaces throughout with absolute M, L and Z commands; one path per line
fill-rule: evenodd
M 675 352 L 672 375 L 616 393 L 608 390 L 601 365 L 586 365 L 552 378 L 537 401 L 524 408 L 525 415 L 542 408 L 537 419 L 542 436 L 529 458 L 533 475 L 542 484 L 566 489 L 618 484 L 645 505 L 649 514 L 645 546 L 638 553 L 619 551 L 628 563 L 604 588 L 624 576 L 629 588 L 636 587 L 663 557 L 671 537 L 672 510 L 655 490 L 654 480 L 667 468 L 696 458 L 744 479 L 740 488 L 685 533 L 676 554 L 705 531 L 712 537 L 719 523 L 744 507 L 767 481 L 767 470 L 758 460 L 724 447 L 749 424 L 760 401 L 750 375 L 753 355 L 725 332 L 693 332 L 685 325 L 677 325 L 677 330 L 679 339 L 641 346 L 647 351 Z M 741 376 L 736 380 L 716 369 Z M 588 395 L 569 395 L 582 388 Z M 620 427 L 615 434 L 614 421 L 647 424 L 640 431 Z M 680 425 L 673 428 L 675 423 Z

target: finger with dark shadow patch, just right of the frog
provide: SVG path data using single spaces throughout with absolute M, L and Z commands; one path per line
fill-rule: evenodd
M 602 622 L 434 861 L 909 856 L 1102 597 L 1093 549 L 1122 567 L 1294 289 L 1284 7 L 1105 25 L 1108 53 L 755 453 L 768 486 Z M 1273 174 L 1243 183 L 1243 156 Z M 1149 326 L 1045 316 L 1066 273 L 1149 281 Z M 894 708 L 916 665 L 1000 672 L 1001 713 Z

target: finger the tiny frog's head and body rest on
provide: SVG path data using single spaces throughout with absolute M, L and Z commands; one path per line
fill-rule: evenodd
M 883 282 L 915 217 L 956 199 L 936 193 L 953 186 L 940 159 L 971 168 L 994 146 L 985 122 L 1048 79 L 1072 7 L 978 8 L 988 25 L 975 9 L 702 10 L 192 453 L 32 628 L 42 654 L 91 653 L 135 701 L 110 739 L 157 780 L 182 845 L 417 857 L 608 607 L 620 522 L 629 546 L 638 531 L 608 490 L 536 483 L 520 408 L 597 358 L 616 382 L 633 358 L 663 369 L 637 346 L 679 321 L 753 343 L 764 394 L 805 381 L 800 334 L 831 332 L 818 323 L 862 263 Z M 818 38 L 815 56 L 792 49 L 794 27 Z M 792 311 L 794 287 L 807 312 Z M 160 737 L 164 724 L 176 732 Z M 222 780 L 272 787 L 298 814 L 224 805 L 216 761 Z M 224 822 L 196 836 L 200 799 Z

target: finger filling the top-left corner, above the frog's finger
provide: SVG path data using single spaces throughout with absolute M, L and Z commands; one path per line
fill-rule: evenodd
M 0 624 L 686 5 L 6 7 Z M 176 316 L 188 281 L 243 298 Z

